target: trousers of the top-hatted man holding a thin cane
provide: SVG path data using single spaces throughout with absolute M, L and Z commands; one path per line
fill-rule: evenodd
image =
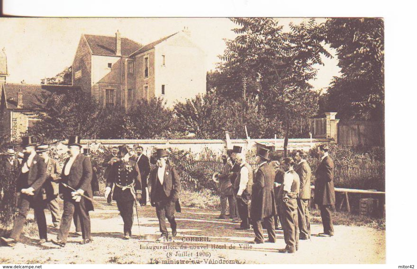
M 85 206 L 85 201 L 86 199 L 84 197 L 81 197 L 79 202 L 64 200 L 64 212 L 62 214 L 61 226 L 58 231 L 58 239 L 64 243 L 67 242 L 67 237 L 70 231 L 74 214 L 77 214 L 77 217 L 80 220 L 83 239 L 91 239 L 90 214 L 88 213 L 88 210 Z

